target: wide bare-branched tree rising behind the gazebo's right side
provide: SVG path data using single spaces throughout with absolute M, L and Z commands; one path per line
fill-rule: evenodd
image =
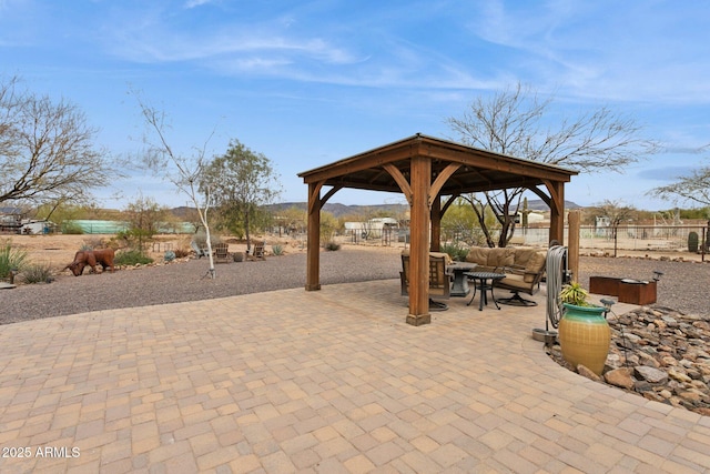
M 621 172 L 655 150 L 653 142 L 639 137 L 641 129 L 633 120 L 606 107 L 549 125 L 551 104 L 552 99 L 542 100 L 518 83 L 476 99 L 462 117 L 450 117 L 447 123 L 470 147 L 580 172 Z M 474 208 L 489 246 L 506 246 L 513 236 L 524 192 L 508 189 L 463 196 Z M 497 239 L 486 224 L 486 209 L 494 211 L 500 224 Z

